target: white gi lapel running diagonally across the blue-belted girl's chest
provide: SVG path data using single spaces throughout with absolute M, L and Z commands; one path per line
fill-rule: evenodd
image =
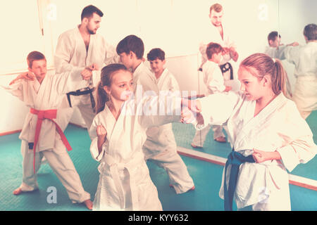
M 276 98 L 274 98 L 273 101 L 271 101 L 271 103 L 266 105 L 266 107 L 263 108 L 263 110 L 261 110 L 261 112 L 258 115 L 252 117 L 251 120 L 249 120 L 249 122 L 244 124 L 244 127 L 242 127 L 239 134 L 237 134 L 235 143 L 239 143 L 240 141 L 242 141 L 246 136 L 250 134 L 250 132 L 252 132 L 252 129 L 254 129 L 255 127 L 261 127 L 263 126 L 263 124 L 268 122 L 268 118 L 272 115 L 272 113 L 274 113 L 277 108 L 283 105 L 285 101 L 286 98 L 282 93 L 276 96 Z M 252 111 L 252 113 L 254 114 L 254 110 Z

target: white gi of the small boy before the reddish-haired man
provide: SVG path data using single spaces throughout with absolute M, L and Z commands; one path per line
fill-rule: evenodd
M 204 84 L 206 85 L 205 96 L 210 94 L 221 93 L 225 91 L 225 81 L 223 79 L 223 73 L 221 72 L 219 65 L 211 60 L 206 61 L 203 65 Z M 204 129 L 197 130 L 192 140 L 194 146 L 204 147 L 206 136 L 210 129 L 213 129 L 213 139 L 218 137 L 225 137 L 223 134 L 223 126 L 209 124 Z

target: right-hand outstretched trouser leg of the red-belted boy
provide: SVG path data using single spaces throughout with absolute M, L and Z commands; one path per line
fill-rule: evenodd
M 65 146 L 59 139 L 56 141 L 54 149 L 45 150 L 44 156 L 49 162 L 51 169 L 66 188 L 70 200 L 75 203 L 82 203 L 85 200 L 90 200 L 90 194 L 82 187 L 80 176 L 73 165 L 70 156 L 68 155 Z

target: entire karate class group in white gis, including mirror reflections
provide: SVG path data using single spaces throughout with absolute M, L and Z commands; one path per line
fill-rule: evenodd
M 172 130 L 172 122 L 182 122 L 197 129 L 193 148 L 204 146 L 211 128 L 215 141 L 232 147 L 222 181 L 213 181 L 221 184 L 224 210 L 232 210 L 233 201 L 238 210 L 291 210 L 287 170 L 317 153 L 305 120 L 317 109 L 316 24 L 303 27 L 304 46 L 281 46 L 278 32 L 271 32 L 266 53 L 251 54 L 233 71 L 230 62 L 239 54 L 223 28 L 223 7 L 213 4 L 209 12 L 209 34 L 197 46 L 197 70 L 207 90 L 202 95 L 181 96 L 162 49 L 145 56 L 142 39 L 133 34 L 116 48 L 108 44 L 97 34 L 104 13 L 92 5 L 83 8 L 80 25 L 58 37 L 54 75 L 46 75 L 42 53 L 30 52 L 28 71 L 6 86 L 30 107 L 19 136 L 23 180 L 13 194 L 39 188 L 37 172 L 46 159 L 70 200 L 89 210 L 163 210 L 147 160 L 166 170 L 175 194 L 195 191 Z M 282 59 L 295 66 L 294 91 Z M 230 86 L 234 73 L 240 90 Z M 93 202 L 63 134 L 74 106 L 85 120 L 92 158 L 99 162 Z M 265 199 L 259 198 L 261 187 Z

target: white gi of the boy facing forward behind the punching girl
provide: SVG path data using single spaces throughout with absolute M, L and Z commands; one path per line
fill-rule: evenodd
M 167 68 L 157 79 L 157 85 L 161 96 L 180 97 L 178 82 Z M 165 107 L 168 108 L 167 105 Z M 149 128 L 143 152 L 146 160 L 154 160 L 159 167 L 166 170 L 170 184 L 176 193 L 185 193 L 194 186 L 194 181 L 189 175 L 185 163 L 178 155 L 172 124 Z

